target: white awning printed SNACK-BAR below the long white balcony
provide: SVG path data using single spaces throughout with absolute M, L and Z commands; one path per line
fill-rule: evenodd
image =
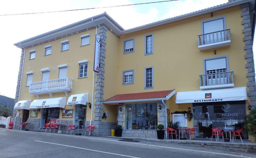
M 65 108 L 66 105 L 66 97 L 59 98 L 47 98 L 47 99 L 36 99 L 31 105 L 30 109 L 38 109 L 38 108 Z

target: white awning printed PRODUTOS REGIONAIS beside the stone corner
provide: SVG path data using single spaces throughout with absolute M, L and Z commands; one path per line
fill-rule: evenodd
M 88 102 L 88 93 L 83 94 L 73 94 L 67 100 L 67 105 L 72 106 L 73 104 L 83 104 L 86 105 Z

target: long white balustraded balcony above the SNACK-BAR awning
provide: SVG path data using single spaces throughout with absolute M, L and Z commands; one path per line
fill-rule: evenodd
M 37 99 L 39 94 L 49 94 L 52 97 L 53 93 L 65 92 L 67 96 L 68 91 L 72 91 L 71 78 L 59 78 L 54 80 L 46 80 L 40 82 L 33 82 L 29 86 L 29 94 L 35 94 Z

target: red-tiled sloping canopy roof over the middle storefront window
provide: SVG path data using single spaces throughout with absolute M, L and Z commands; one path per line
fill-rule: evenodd
M 112 96 L 109 99 L 104 100 L 104 102 L 118 101 L 118 100 L 135 100 L 135 99 L 151 99 L 151 98 L 165 98 L 173 90 L 166 91 L 155 91 L 155 92 L 142 92 L 142 93 L 130 93 L 130 94 L 118 94 Z

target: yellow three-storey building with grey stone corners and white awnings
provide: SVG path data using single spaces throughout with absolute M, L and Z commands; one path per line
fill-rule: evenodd
M 124 137 L 157 138 L 157 125 L 180 121 L 204 139 L 211 128 L 241 129 L 256 105 L 253 11 L 253 0 L 237 0 L 129 30 L 103 13 L 15 43 L 16 127 L 58 119 L 95 125 L 96 136 L 118 124 Z

